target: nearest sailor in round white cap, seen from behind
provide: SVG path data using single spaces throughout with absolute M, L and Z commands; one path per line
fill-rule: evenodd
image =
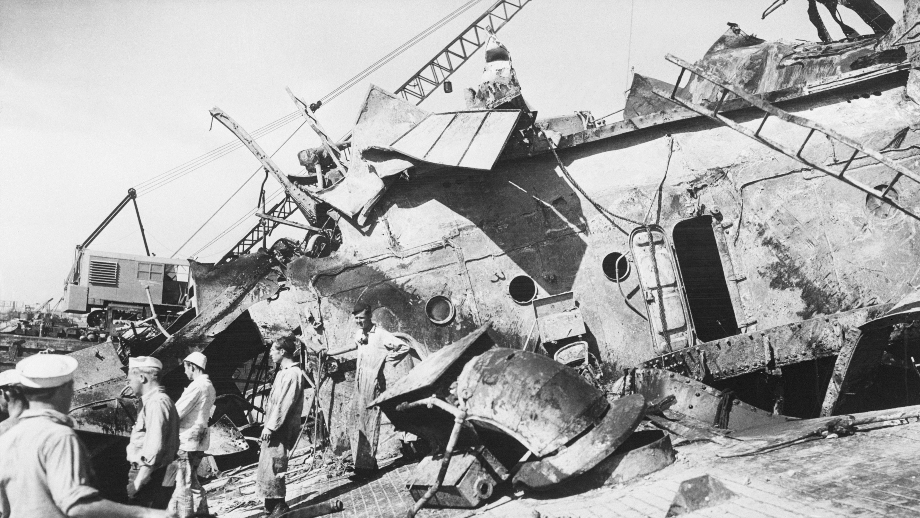
M 66 415 L 76 367 L 73 357 L 61 354 L 35 354 L 17 363 L 29 409 L 0 437 L 0 516 L 171 516 L 104 500 L 92 487 L 89 455 Z

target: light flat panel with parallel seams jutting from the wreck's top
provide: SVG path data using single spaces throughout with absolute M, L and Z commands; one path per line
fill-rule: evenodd
M 489 170 L 520 115 L 519 109 L 432 113 L 390 147 L 433 164 Z

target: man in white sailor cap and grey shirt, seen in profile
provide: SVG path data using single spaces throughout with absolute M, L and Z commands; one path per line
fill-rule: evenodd
M 167 466 L 178 452 L 178 413 L 160 385 L 163 363 L 152 356 L 128 359 L 128 386 L 141 398 L 141 409 L 128 443 L 128 498 L 132 503 L 166 509 L 173 488 L 164 486 Z

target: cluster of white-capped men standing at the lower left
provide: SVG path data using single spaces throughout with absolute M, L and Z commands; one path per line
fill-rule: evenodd
M 209 446 L 215 393 L 201 352 L 184 364 L 191 383 L 174 404 L 160 385 L 163 363 L 149 356 L 128 361 L 128 386 L 141 400 L 126 452 L 131 505 L 101 498 L 67 416 L 76 360 L 36 354 L 0 374 L 0 409 L 10 416 L 0 423 L 0 517 L 206 515 L 197 470 Z

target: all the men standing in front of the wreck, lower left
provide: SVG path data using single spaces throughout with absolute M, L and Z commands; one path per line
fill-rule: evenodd
M 374 325 L 370 306 L 356 305 L 352 315 L 358 328 L 354 342 L 328 354 L 358 351 L 351 448 L 356 474 L 366 477 L 376 470 L 380 431 L 379 409 L 367 406 L 385 389 L 386 378 L 401 377 L 412 365 L 403 362 L 408 345 Z M 302 432 L 307 380 L 296 353 L 293 337 L 276 340 L 269 350 L 279 370 L 264 406 L 256 489 L 270 518 L 289 511 L 284 478 Z M 215 393 L 201 352 L 192 352 L 183 363 L 191 383 L 174 404 L 161 385 L 163 363 L 150 356 L 128 360 L 127 385 L 140 398 L 126 452 L 131 463 L 126 492 L 132 505 L 104 500 L 93 487 L 86 448 L 67 416 L 76 360 L 36 354 L 17 363 L 14 371 L 0 373 L 0 410 L 10 415 L 0 422 L 0 518 L 207 515 L 197 471 L 210 445 Z

